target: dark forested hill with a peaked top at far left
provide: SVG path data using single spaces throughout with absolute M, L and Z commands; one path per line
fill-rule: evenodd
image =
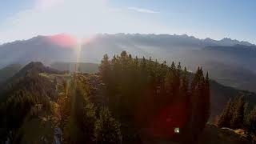
M 39 116 L 48 117 L 50 102 L 58 98 L 58 93 L 55 91 L 54 83 L 40 76 L 39 73 L 51 74 L 53 71 L 55 70 L 46 68 L 40 62 L 31 62 L 1 86 L 2 141 L 8 139 L 8 142 L 26 143 L 20 139 L 23 137 L 23 129 L 26 130 L 24 126 L 34 125 L 34 122 L 40 123 Z M 36 127 L 38 126 L 34 128 Z M 39 129 L 38 133 L 41 132 L 44 133 Z

